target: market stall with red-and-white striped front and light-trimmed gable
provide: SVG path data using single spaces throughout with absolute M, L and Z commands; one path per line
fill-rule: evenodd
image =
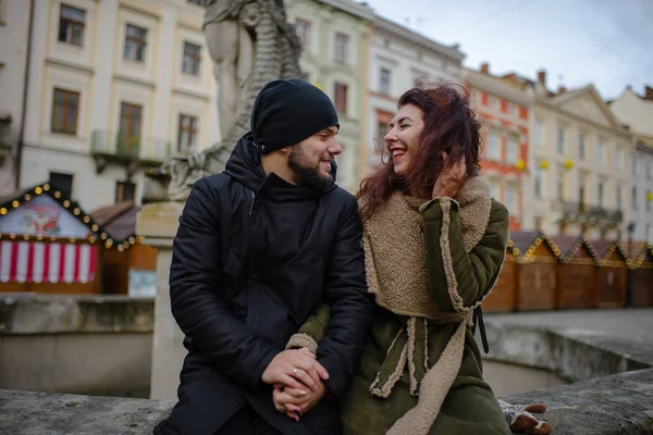
M 0 291 L 101 293 L 101 251 L 113 241 L 49 184 L 0 199 Z

